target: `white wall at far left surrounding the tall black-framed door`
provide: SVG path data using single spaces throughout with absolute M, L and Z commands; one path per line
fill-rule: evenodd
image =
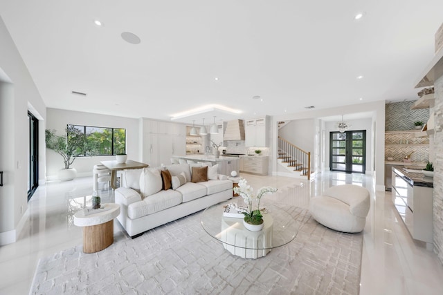
M 44 126 L 46 108 L 1 18 L 0 44 L 0 171 L 4 171 L 4 187 L 0 187 L 0 245 L 5 245 L 17 239 L 28 209 L 28 109 L 32 108 L 41 119 L 39 124 Z M 44 138 L 44 133 L 39 136 Z M 39 161 L 44 163 L 44 153 Z M 44 164 L 39 173 L 44 175 Z

